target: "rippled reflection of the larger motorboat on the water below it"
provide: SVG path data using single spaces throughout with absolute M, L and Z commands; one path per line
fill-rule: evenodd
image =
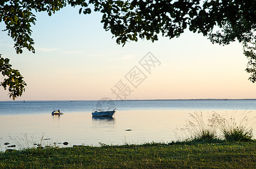
M 93 128 L 115 128 L 114 117 L 92 117 Z

